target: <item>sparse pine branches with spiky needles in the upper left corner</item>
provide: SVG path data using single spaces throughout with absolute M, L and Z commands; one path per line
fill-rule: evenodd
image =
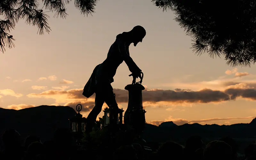
M 73 0 L 75 7 L 80 10 L 84 16 L 92 15 L 95 5 L 99 0 Z M 65 8 L 71 0 L 0 0 L 0 52 L 5 51 L 5 46 L 14 47 L 14 38 L 10 34 L 15 28 L 15 24 L 23 19 L 29 25 L 38 28 L 37 34 L 43 35 L 50 33 L 51 28 L 48 24 L 46 13 L 55 12 L 54 17 L 66 18 L 68 13 Z M 39 8 L 42 4 L 43 7 Z M 44 12 L 44 10 L 46 12 Z

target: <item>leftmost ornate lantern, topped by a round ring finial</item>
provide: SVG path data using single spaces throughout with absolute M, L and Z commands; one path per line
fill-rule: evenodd
M 86 118 L 80 114 L 81 110 L 82 110 L 82 105 L 77 104 L 76 111 L 78 113 L 75 115 L 75 117 L 69 119 L 70 132 L 79 133 L 79 134 L 82 132 L 85 132 Z

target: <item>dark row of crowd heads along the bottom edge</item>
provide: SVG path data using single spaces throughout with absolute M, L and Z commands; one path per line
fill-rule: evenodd
M 255 160 L 255 144 L 244 149 L 243 157 L 236 152 L 236 142 L 222 138 L 204 144 L 201 137 L 191 136 L 185 147 L 167 141 L 163 144 L 148 144 L 152 151 L 146 151 L 139 143 L 124 143 L 117 148 L 92 149 L 76 145 L 68 129 L 55 131 L 53 140 L 41 142 L 40 137 L 30 135 L 22 144 L 21 136 L 15 129 L 6 130 L 2 136 L 4 150 L 1 160 Z

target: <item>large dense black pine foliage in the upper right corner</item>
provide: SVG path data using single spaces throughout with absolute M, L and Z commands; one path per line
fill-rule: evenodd
M 192 38 L 193 51 L 212 58 L 223 55 L 227 64 L 250 66 L 256 62 L 255 0 L 152 0 Z

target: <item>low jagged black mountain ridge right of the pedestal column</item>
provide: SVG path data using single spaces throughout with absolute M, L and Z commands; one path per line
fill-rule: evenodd
M 146 124 L 143 137 L 150 141 L 166 141 L 171 139 L 188 138 L 199 135 L 203 138 L 221 138 L 229 136 L 232 138 L 256 138 L 256 118 L 249 124 L 183 124 L 176 125 L 173 122 L 164 122 L 158 127 Z

